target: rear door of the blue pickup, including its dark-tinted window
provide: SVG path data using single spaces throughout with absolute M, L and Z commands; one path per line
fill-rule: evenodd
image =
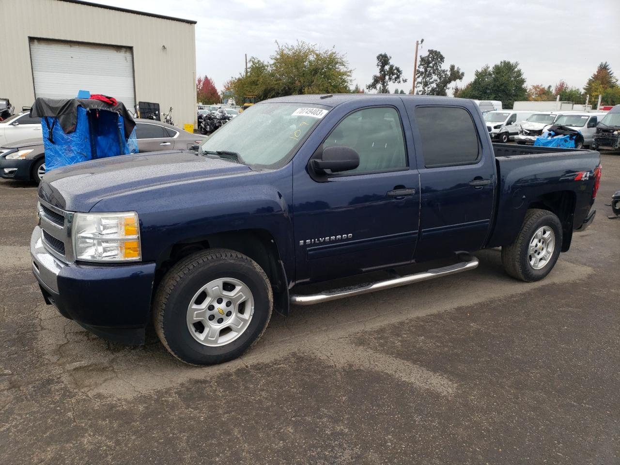
M 480 118 L 460 106 L 415 105 L 414 128 L 422 206 L 417 261 L 477 250 L 490 229 L 495 158 Z M 445 131 L 444 128 L 450 128 Z

